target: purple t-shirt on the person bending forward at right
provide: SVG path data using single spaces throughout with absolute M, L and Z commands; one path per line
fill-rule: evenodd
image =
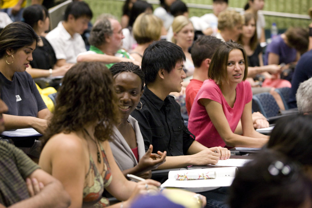
M 297 51 L 286 45 L 280 35 L 276 36 L 272 42 L 266 47 L 266 55 L 264 58 L 264 65 L 268 65 L 269 53 L 275 53 L 280 56 L 278 64 L 288 64 L 296 60 Z

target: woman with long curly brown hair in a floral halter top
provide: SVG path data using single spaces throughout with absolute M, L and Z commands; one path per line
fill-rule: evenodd
M 109 206 L 104 188 L 124 200 L 115 207 L 128 206 L 138 193 L 158 190 L 157 181 L 128 181 L 114 160 L 108 139 L 119 123 L 115 103 L 114 81 L 103 63 L 82 62 L 64 76 L 39 165 L 62 182 L 71 207 Z

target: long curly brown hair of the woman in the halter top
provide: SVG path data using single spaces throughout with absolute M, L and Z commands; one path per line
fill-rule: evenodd
M 118 112 L 114 80 L 105 64 L 77 63 L 63 78 L 43 145 L 54 134 L 77 132 L 95 122 L 95 138 L 110 139 L 119 120 Z

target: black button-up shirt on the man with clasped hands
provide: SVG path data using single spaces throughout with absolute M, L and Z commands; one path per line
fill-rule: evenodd
M 159 150 L 167 151 L 167 156 L 185 155 L 195 136 L 184 125 L 180 105 L 173 96 L 163 101 L 145 86 L 141 102 L 142 109 L 135 109 L 131 115 L 139 122 L 145 150 L 152 144 L 154 153 Z

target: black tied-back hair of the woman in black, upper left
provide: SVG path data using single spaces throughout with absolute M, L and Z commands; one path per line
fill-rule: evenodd
M 48 10 L 45 6 L 34 4 L 26 7 L 23 11 L 23 19 L 25 23 L 34 28 L 39 20 L 44 21 L 48 17 Z

